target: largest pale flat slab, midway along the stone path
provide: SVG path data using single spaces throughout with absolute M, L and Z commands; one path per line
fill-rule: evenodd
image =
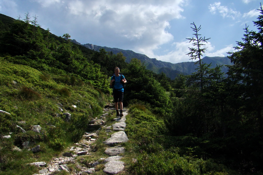
M 129 139 L 124 131 L 119 131 L 111 135 L 110 138 L 106 139 L 102 143 L 108 146 L 114 146 L 118 143 L 125 143 Z

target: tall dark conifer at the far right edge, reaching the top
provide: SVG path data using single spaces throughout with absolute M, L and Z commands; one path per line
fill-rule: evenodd
M 258 31 L 250 31 L 245 26 L 243 42 L 237 42 L 236 52 L 229 52 L 233 66 L 229 66 L 229 80 L 233 85 L 233 93 L 243 100 L 243 108 L 250 111 L 259 120 L 263 130 L 263 10 L 260 4 L 260 15 L 254 21 Z M 241 106 L 240 106 L 241 107 Z M 254 112 L 253 112 L 254 111 Z

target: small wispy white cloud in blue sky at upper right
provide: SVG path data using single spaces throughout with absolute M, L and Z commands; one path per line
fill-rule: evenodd
M 212 14 L 216 14 L 218 12 L 223 18 L 224 17 L 230 17 L 233 20 L 236 17 L 240 16 L 240 12 L 235 11 L 231 8 L 228 8 L 227 6 L 221 6 L 220 2 L 215 2 L 214 4 L 210 4 L 209 10 Z

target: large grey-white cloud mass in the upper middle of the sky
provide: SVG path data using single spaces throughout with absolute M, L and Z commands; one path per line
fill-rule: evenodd
M 173 35 L 167 32 L 169 21 L 184 18 L 181 6 L 187 1 L 64 0 L 64 3 L 67 17 L 74 18 L 77 30 L 93 33 L 89 37 L 96 37 L 98 43 L 108 41 L 114 47 L 150 55 L 160 45 L 173 40 Z

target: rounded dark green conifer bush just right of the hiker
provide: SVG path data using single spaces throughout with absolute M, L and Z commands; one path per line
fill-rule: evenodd
M 139 60 L 132 59 L 123 73 L 128 82 L 124 92 L 124 100 L 145 101 L 152 105 L 156 112 L 162 114 L 170 111 L 171 103 L 168 93 L 156 81 L 152 72 L 146 70 Z

